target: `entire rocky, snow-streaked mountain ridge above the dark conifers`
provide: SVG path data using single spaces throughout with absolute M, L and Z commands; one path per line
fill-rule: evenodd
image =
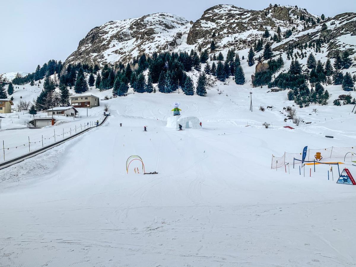
M 322 30 L 324 22 L 327 30 Z M 133 56 L 154 51 L 200 51 L 210 48 L 212 40 L 217 51 L 242 50 L 261 38 L 265 28 L 273 36 L 278 27 L 282 35 L 290 30 L 291 36 L 274 43 L 274 51 L 286 52 L 292 43 L 304 44 L 320 38 L 327 44 L 328 57 L 333 57 L 336 50 L 348 49 L 351 55 L 356 52 L 355 38 L 352 37 L 356 34 L 356 13 L 324 18 L 297 6 L 270 5 L 263 10 L 247 10 L 234 5 L 216 5 L 205 10 L 195 22 L 168 13 L 109 21 L 93 28 L 65 64 L 81 62 L 103 66 L 119 61 L 127 63 Z

